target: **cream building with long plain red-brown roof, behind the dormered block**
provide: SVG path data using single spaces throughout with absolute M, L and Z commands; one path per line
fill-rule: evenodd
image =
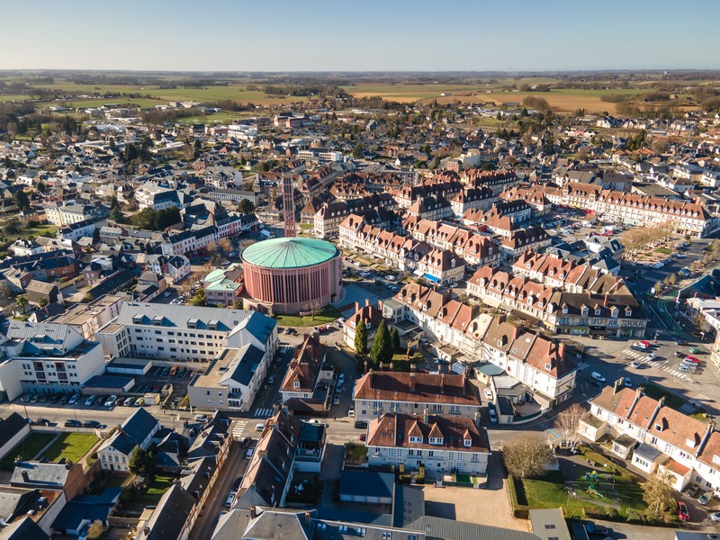
M 386 412 L 406 415 L 428 410 L 443 417 L 475 419 L 481 401 L 477 387 L 464 375 L 374 372 L 356 381 L 353 391 L 358 420 L 370 420 Z

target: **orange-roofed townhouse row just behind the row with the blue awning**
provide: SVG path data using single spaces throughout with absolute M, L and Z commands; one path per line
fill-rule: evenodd
M 407 216 L 402 228 L 422 242 L 455 251 L 467 265 L 485 266 L 500 262 L 499 247 L 487 235 L 477 231 L 446 221 L 421 220 L 414 216 Z

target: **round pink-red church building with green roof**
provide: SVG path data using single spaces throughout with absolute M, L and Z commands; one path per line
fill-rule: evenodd
M 343 286 L 338 247 L 320 238 L 271 238 L 242 253 L 247 294 L 272 313 L 311 311 L 335 302 Z

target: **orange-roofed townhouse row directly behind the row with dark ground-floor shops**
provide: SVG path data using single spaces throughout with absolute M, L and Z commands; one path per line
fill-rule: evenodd
M 518 257 L 512 272 L 567 293 L 632 294 L 623 278 L 605 274 L 583 259 L 564 259 L 532 249 Z

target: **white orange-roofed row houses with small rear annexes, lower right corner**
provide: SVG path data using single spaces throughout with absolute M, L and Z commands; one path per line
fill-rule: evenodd
M 655 400 L 643 388 L 626 388 L 618 379 L 590 400 L 581 421 L 583 437 L 609 437 L 611 451 L 630 459 L 644 473 L 667 473 L 672 487 L 689 483 L 720 494 L 720 432 L 714 421 L 693 419 Z

